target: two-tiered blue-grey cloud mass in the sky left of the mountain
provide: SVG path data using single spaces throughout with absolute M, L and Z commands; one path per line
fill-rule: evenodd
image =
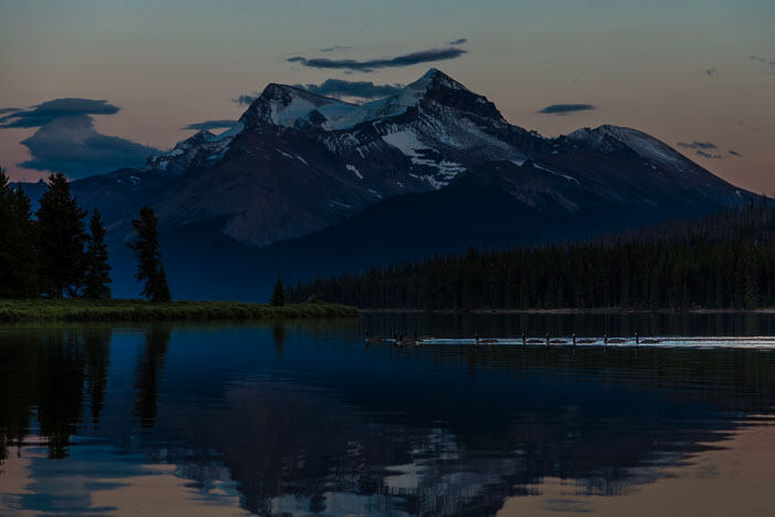
M 118 107 L 92 99 L 55 99 L 0 117 L 0 128 L 38 127 L 21 142 L 31 158 L 19 164 L 34 170 L 61 170 L 72 178 L 143 165 L 158 149 L 94 130 L 92 115 L 113 115 Z

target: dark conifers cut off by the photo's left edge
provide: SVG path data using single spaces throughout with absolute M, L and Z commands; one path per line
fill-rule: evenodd
M 8 184 L 0 167 L 0 296 L 27 298 L 37 294 L 30 199 Z

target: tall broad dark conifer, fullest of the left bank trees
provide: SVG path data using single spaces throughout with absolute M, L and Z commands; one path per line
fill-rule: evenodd
M 40 287 L 51 298 L 78 294 L 83 285 L 86 240 L 82 210 L 70 194 L 70 182 L 61 174 L 49 177 L 38 209 L 35 248 L 39 257 Z

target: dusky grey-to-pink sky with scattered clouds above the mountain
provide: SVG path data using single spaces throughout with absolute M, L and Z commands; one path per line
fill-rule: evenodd
M 773 0 L 0 0 L 0 165 L 138 166 L 268 83 L 363 102 L 433 66 L 545 136 L 636 127 L 773 195 L 774 27 Z

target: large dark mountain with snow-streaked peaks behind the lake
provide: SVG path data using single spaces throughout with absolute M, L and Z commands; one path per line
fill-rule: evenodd
M 435 69 L 362 105 L 270 84 L 234 128 L 73 192 L 106 221 L 116 294 L 137 292 L 124 244 L 149 205 L 174 296 L 259 300 L 278 273 L 592 237 L 751 196 L 636 130 L 512 125 Z

